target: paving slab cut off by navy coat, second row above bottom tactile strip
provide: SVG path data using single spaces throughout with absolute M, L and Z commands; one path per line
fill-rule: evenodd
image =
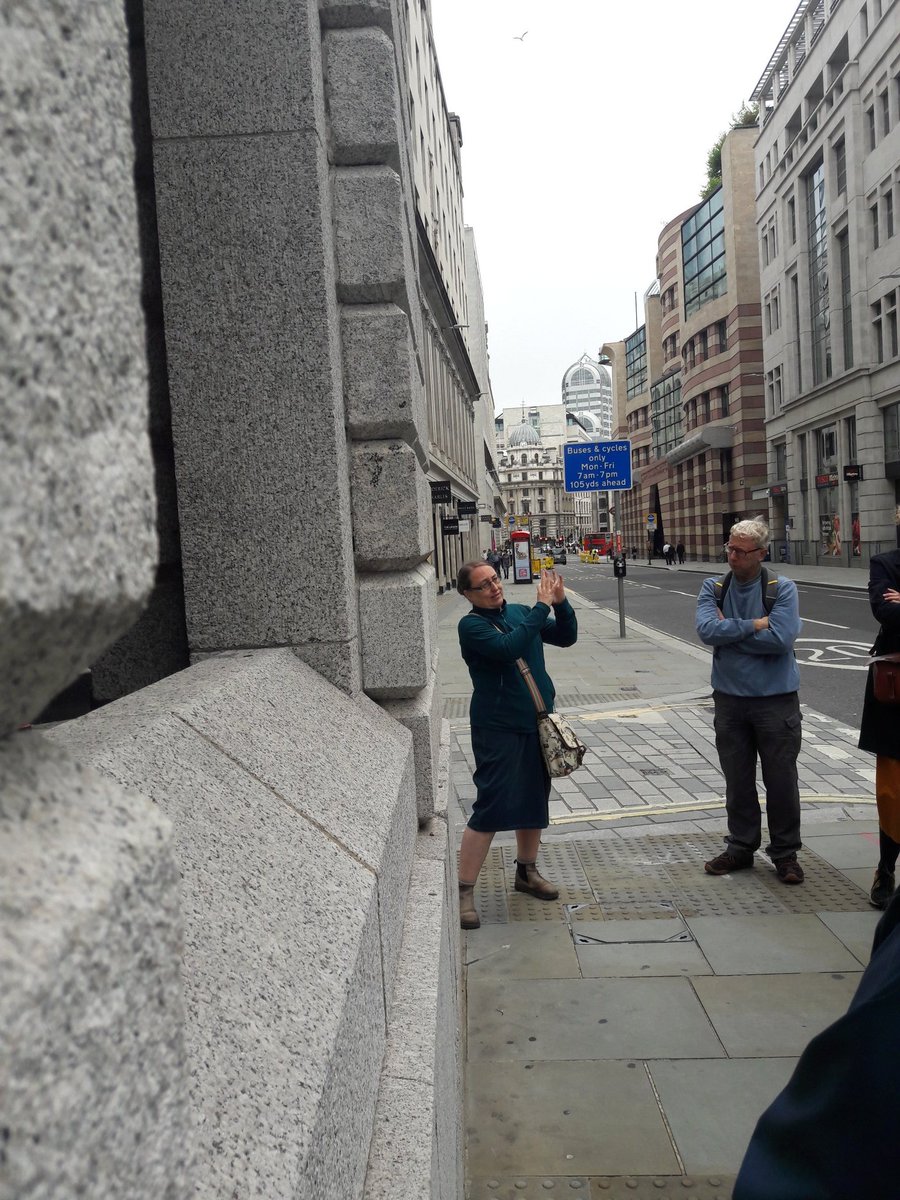
M 698 976 L 691 986 L 730 1057 L 791 1057 L 846 1013 L 860 974 Z

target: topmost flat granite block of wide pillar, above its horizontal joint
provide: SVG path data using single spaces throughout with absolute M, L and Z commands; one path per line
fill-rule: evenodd
M 292 0 L 144 0 L 154 137 L 324 127 L 316 12 Z

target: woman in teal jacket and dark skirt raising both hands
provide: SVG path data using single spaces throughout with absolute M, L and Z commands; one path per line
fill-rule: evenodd
M 472 604 L 458 634 L 474 688 L 469 721 L 478 788 L 460 846 L 460 924 L 478 929 L 475 883 L 500 829 L 516 830 L 516 890 L 539 900 L 559 895 L 536 866 L 541 830 L 550 824 L 550 775 L 538 740 L 538 712 L 516 659 L 526 660 L 552 713 L 556 689 L 544 665 L 544 643 L 574 646 L 578 625 L 563 578 L 552 570 L 541 571 L 532 608 L 506 604 L 503 583 L 486 563 L 464 563 L 456 589 Z

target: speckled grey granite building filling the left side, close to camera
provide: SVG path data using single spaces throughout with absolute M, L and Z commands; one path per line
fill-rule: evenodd
M 462 1195 L 413 7 L 7 14 L 4 1194 Z

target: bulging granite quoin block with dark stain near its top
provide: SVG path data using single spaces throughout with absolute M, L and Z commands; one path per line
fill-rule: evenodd
M 415 451 L 402 442 L 354 443 L 350 491 L 358 570 L 418 566 L 431 550 L 431 497 Z

